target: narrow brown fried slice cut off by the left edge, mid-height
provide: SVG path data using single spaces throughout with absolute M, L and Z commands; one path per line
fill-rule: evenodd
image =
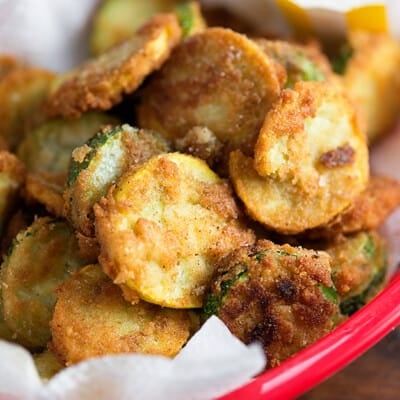
M 13 154 L 0 151 L 0 235 L 16 208 L 19 189 L 25 182 L 25 167 Z

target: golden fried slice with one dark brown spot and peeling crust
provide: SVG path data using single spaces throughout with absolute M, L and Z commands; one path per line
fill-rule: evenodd
M 364 190 L 368 149 L 340 92 L 325 82 L 297 82 L 267 114 L 254 160 L 233 152 L 229 170 L 252 218 L 295 234 L 327 223 Z

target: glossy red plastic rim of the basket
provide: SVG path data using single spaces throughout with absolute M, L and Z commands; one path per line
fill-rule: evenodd
M 400 271 L 374 300 L 329 335 L 218 400 L 286 400 L 346 366 L 400 325 Z

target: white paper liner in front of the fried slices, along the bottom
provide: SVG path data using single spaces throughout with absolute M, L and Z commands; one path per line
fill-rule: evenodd
M 0 399 L 208 400 L 247 382 L 265 367 L 259 345 L 245 346 L 211 317 L 171 360 L 139 354 L 101 357 L 64 369 L 42 384 L 31 355 L 0 341 Z

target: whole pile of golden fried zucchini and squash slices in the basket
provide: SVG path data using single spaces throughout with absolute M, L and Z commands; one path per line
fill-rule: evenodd
M 368 144 L 400 110 L 398 43 L 354 32 L 328 59 L 208 24 L 108 0 L 73 71 L 0 57 L 0 337 L 43 379 L 173 357 L 212 314 L 273 367 L 383 285 L 400 184 Z

